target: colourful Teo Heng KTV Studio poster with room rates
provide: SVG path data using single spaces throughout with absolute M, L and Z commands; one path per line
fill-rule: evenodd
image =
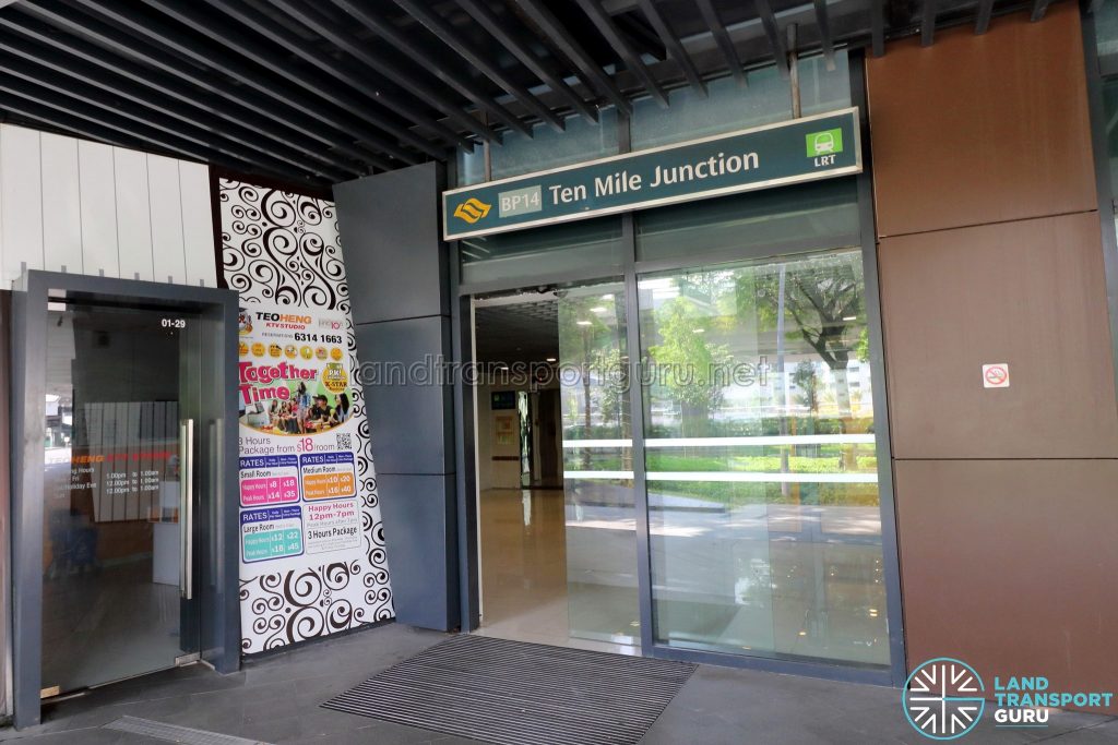
M 342 314 L 257 304 L 240 311 L 243 577 L 360 556 L 347 347 Z

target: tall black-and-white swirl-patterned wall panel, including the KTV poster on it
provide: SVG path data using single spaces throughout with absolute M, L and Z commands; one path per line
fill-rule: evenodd
M 240 296 L 240 649 L 394 615 L 334 206 L 221 179 L 221 277 Z

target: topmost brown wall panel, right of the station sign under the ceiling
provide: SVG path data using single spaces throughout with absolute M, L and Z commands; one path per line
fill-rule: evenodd
M 882 236 L 1098 209 L 1076 3 L 866 60 Z

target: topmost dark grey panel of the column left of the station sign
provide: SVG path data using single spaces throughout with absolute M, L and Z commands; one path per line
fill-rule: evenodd
M 334 187 L 353 323 L 449 313 L 443 183 L 443 166 L 426 163 Z

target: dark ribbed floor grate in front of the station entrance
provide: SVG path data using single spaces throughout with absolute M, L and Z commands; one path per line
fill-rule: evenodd
M 625 745 L 644 736 L 694 670 L 458 636 L 323 706 L 502 745 Z

